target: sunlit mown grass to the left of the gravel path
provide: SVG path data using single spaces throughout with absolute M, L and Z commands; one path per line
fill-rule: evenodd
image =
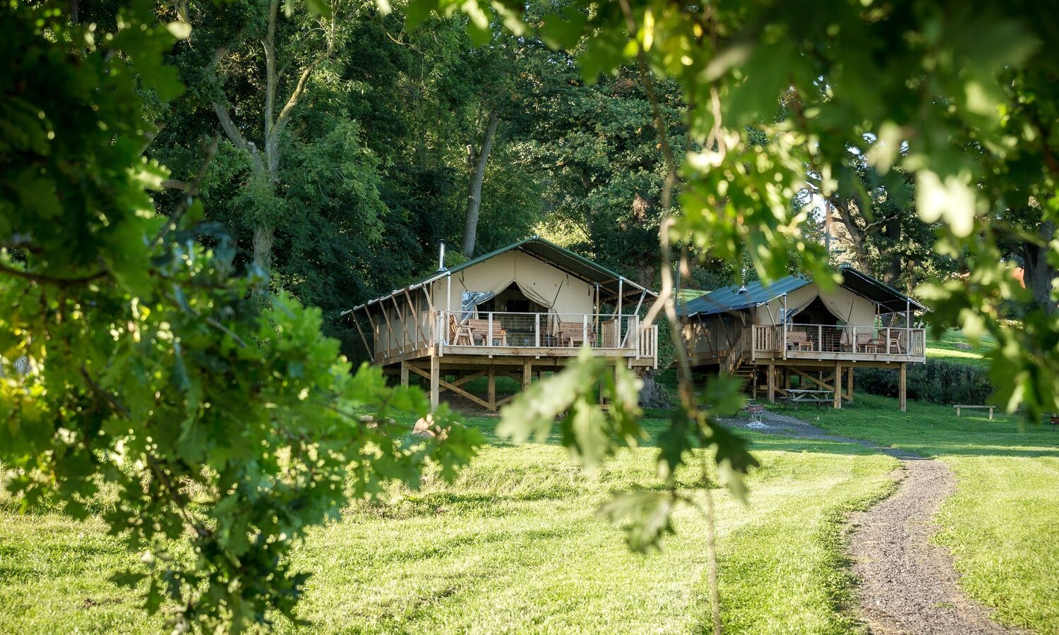
M 631 554 L 594 515 L 613 490 L 657 486 L 656 450 L 581 474 L 555 444 L 490 439 L 453 485 L 427 479 L 354 505 L 294 554 L 312 572 L 312 632 L 659 632 L 708 629 L 703 520 L 684 509 L 661 552 Z M 648 421 L 657 432 L 659 421 Z M 751 505 L 717 492 L 723 619 L 733 633 L 845 633 L 841 523 L 892 489 L 896 462 L 842 443 L 751 437 Z M 689 483 L 692 473 L 680 476 Z M 0 632 L 157 632 L 107 578 L 134 562 L 98 521 L 0 511 Z M 282 632 L 299 629 L 279 622 Z

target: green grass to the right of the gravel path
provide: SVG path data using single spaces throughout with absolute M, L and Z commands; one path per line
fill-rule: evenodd
M 1059 633 L 1059 431 L 956 418 L 951 406 L 920 402 L 902 414 L 896 400 L 873 396 L 792 414 L 949 464 L 957 490 L 941 508 L 937 542 L 955 556 L 962 584 L 999 620 Z

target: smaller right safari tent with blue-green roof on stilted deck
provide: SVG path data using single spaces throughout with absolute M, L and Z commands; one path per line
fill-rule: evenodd
M 770 401 L 826 399 L 834 407 L 852 399 L 855 367 L 890 367 L 900 374 L 903 409 L 907 364 L 926 362 L 926 334 L 915 324 L 923 307 L 850 267 L 838 273 L 838 285 L 791 275 L 681 304 L 693 364 L 742 376 Z

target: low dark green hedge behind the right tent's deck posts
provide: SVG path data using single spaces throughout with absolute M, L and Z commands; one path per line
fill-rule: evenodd
M 898 374 L 889 368 L 858 368 L 854 381 L 859 391 L 897 396 Z M 909 399 L 931 403 L 986 403 L 993 393 L 988 367 L 948 360 L 910 364 L 908 381 Z

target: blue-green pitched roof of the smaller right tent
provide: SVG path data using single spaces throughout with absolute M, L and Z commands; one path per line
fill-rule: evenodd
M 870 300 L 889 312 L 901 312 L 909 306 L 920 310 L 926 309 L 921 304 L 904 295 L 897 289 L 866 273 L 857 271 L 852 267 L 843 266 L 839 271 L 842 274 L 842 287 Z M 690 302 L 683 303 L 678 307 L 677 312 L 680 315 L 689 318 L 695 315 L 713 315 L 728 311 L 740 311 L 762 305 L 810 284 L 812 284 L 812 280 L 803 275 L 789 275 L 769 285 L 766 285 L 761 280 L 747 283 L 741 288 L 732 285 L 711 291 Z

